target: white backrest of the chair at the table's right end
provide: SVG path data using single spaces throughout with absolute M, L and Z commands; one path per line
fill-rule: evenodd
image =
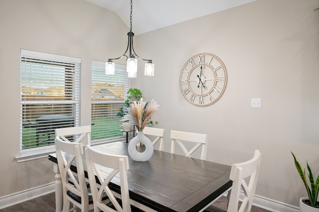
M 255 150 L 254 157 L 252 159 L 232 165 L 229 179 L 233 181 L 233 185 L 229 197 L 227 212 L 250 212 L 256 191 L 260 161 L 261 153 L 259 150 Z M 249 180 L 248 184 L 245 179 Z M 244 199 L 240 209 L 238 210 L 241 188 L 244 192 Z

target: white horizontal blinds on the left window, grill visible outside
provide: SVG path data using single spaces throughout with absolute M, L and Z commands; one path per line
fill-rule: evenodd
M 81 59 L 21 50 L 20 148 L 54 144 L 54 129 L 79 125 Z

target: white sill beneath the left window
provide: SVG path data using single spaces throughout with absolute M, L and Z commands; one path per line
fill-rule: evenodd
M 25 162 L 29 160 L 35 160 L 40 158 L 48 157 L 49 154 L 55 152 L 55 146 L 46 146 L 46 148 L 41 148 L 37 150 L 29 150 L 20 152 L 19 156 L 16 156 L 16 162 Z

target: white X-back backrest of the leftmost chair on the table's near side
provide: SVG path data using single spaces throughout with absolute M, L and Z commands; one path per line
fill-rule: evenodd
M 88 211 L 89 197 L 84 176 L 82 155 L 84 154 L 84 145 L 82 143 L 55 140 L 56 156 L 60 170 L 63 196 L 67 192 L 81 198 L 81 210 Z M 76 163 L 76 164 L 74 164 Z M 71 170 L 71 165 L 76 166 L 77 174 Z

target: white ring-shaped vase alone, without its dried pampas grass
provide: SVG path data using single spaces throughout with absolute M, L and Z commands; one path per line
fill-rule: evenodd
M 139 152 L 136 149 L 138 143 L 145 145 L 145 151 Z M 135 161 L 148 161 L 153 155 L 154 147 L 152 141 L 146 137 L 143 131 L 139 131 L 138 135 L 134 137 L 128 145 L 128 152 L 130 157 Z

